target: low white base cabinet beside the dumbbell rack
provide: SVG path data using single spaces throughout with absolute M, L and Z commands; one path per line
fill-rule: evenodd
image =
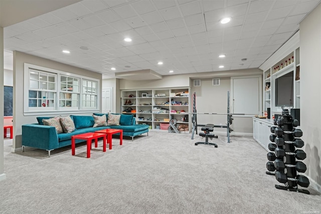
M 256 140 L 266 151 L 268 149 L 271 135 L 271 127 L 274 126 L 270 119 L 253 118 L 253 139 Z

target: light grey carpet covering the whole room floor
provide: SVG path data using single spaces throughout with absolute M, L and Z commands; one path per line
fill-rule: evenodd
M 218 148 L 200 136 L 149 132 L 131 140 L 102 142 L 86 158 L 86 146 L 10 153 L 0 213 L 314 213 L 321 195 L 279 190 L 266 175 L 266 151 L 252 137 L 219 135 Z M 108 147 L 107 147 L 108 148 Z

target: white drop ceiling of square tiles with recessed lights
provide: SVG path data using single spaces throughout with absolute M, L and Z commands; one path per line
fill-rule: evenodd
M 258 68 L 320 2 L 83 0 L 5 27 L 5 68 L 15 50 L 106 78 Z M 222 25 L 227 16 L 231 22 Z

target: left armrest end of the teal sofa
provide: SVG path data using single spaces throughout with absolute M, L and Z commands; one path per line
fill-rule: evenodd
M 45 150 L 57 149 L 56 128 L 37 124 L 22 125 L 22 145 Z

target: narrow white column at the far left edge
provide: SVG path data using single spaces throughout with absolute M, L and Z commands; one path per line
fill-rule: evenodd
M 4 102 L 4 28 L 0 27 L 0 100 Z M 4 127 L 4 103 L 0 104 L 0 127 Z M 4 173 L 4 129 L 0 129 L 0 181 L 6 179 Z

